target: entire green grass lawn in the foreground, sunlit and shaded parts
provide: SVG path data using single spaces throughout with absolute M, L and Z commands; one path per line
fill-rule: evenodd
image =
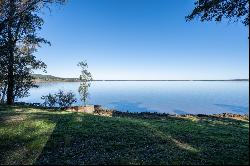
M 249 164 L 249 122 L 0 106 L 0 164 Z

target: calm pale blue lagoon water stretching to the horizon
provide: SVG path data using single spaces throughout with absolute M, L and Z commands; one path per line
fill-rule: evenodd
M 40 83 L 19 101 L 41 103 L 41 96 L 59 89 L 72 91 L 79 100 L 79 82 Z M 130 112 L 214 114 L 249 112 L 248 81 L 95 81 L 88 104 Z

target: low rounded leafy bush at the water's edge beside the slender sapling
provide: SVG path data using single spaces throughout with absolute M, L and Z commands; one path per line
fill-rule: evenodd
M 55 94 L 42 96 L 41 99 L 44 100 L 43 105 L 45 107 L 54 107 L 57 105 L 60 108 L 70 107 L 77 101 L 73 92 L 64 92 L 62 90 L 59 90 L 59 92 Z

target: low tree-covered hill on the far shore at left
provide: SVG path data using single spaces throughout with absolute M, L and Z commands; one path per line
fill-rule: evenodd
M 61 78 L 61 77 L 55 77 L 52 75 L 43 75 L 43 74 L 32 74 L 32 76 L 35 78 L 35 82 L 77 82 L 79 81 L 78 78 Z

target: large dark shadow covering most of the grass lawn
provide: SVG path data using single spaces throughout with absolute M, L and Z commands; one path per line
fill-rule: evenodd
M 248 163 L 248 128 L 243 127 L 247 122 L 209 117 L 65 116 L 57 121 L 35 164 Z

